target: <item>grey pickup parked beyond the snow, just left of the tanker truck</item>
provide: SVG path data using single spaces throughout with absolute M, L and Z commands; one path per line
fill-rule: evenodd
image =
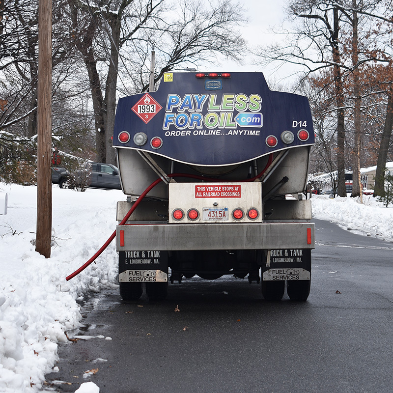
M 119 170 L 104 163 L 88 162 L 74 174 L 74 184 L 81 191 L 87 187 L 121 190 Z

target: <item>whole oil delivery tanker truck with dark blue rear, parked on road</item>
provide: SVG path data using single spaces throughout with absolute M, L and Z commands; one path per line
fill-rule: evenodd
M 161 300 L 168 281 L 232 275 L 260 282 L 266 300 L 285 288 L 307 300 L 313 144 L 308 99 L 271 91 L 262 73 L 166 73 L 157 91 L 120 98 L 121 297 L 138 300 L 143 284 Z

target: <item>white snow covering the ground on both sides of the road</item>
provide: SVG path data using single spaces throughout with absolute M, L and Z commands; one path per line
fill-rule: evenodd
M 114 242 L 96 262 L 71 281 L 65 277 L 89 259 L 115 229 L 121 191 L 84 193 L 53 187 L 53 247 L 50 259 L 35 252 L 37 188 L 0 184 L 8 212 L 0 215 L 0 392 L 33 393 L 45 374 L 56 370 L 57 343 L 80 326 L 78 301 L 117 285 Z M 3 202 L 4 203 L 4 202 Z M 372 197 L 313 196 L 314 217 L 393 239 L 393 207 Z M 1 211 L 1 210 L 0 210 Z M 103 337 L 109 338 L 109 337 Z M 96 393 L 92 382 L 75 384 L 78 393 Z

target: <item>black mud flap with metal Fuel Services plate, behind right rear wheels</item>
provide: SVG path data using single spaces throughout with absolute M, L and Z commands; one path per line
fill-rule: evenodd
M 268 250 L 263 256 L 263 281 L 298 281 L 311 279 L 311 250 Z

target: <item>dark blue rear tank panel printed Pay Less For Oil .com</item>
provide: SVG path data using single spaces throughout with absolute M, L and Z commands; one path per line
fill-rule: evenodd
M 222 166 L 314 144 L 308 99 L 271 91 L 262 73 L 164 74 L 157 91 L 119 99 L 113 146 Z

